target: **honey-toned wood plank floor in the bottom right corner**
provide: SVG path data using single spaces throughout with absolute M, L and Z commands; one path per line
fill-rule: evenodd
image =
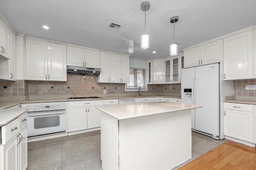
M 256 170 L 256 147 L 227 141 L 178 170 Z

